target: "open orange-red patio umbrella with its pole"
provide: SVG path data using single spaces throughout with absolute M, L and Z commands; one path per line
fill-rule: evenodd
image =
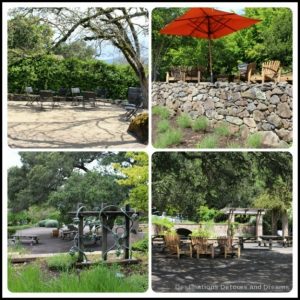
M 260 20 L 214 8 L 190 8 L 185 14 L 167 24 L 160 33 L 208 39 L 209 69 L 213 81 L 211 41 L 257 22 Z

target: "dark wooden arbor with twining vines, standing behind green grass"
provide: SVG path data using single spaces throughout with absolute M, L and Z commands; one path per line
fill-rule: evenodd
M 124 249 L 124 259 L 130 259 L 130 231 L 132 229 L 134 220 L 138 214 L 130 209 L 129 205 L 125 209 L 119 208 L 115 205 L 102 206 L 99 211 L 86 211 L 85 206 L 81 206 L 76 212 L 70 212 L 73 217 L 73 222 L 78 224 L 77 233 L 77 246 L 73 251 L 78 251 L 78 262 L 83 262 L 85 253 L 83 250 L 83 237 L 84 237 L 84 218 L 85 217 L 98 217 L 102 225 L 102 260 L 107 260 L 107 254 L 115 247 L 117 249 Z M 114 222 L 117 217 L 123 217 L 125 222 L 124 233 L 119 235 L 114 229 Z M 130 224 L 131 223 L 131 224 Z M 108 234 L 112 233 L 114 238 L 114 245 L 108 248 Z

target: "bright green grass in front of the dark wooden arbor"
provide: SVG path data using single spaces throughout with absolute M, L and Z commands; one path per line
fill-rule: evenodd
M 99 265 L 76 272 L 62 272 L 49 279 L 37 264 L 22 266 L 16 272 L 8 265 L 8 289 L 11 292 L 144 292 L 148 275 L 119 278 L 117 268 Z

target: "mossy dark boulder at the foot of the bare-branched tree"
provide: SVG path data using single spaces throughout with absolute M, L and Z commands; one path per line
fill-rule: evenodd
M 141 143 L 148 143 L 148 113 L 138 114 L 132 119 L 127 132 L 135 136 Z

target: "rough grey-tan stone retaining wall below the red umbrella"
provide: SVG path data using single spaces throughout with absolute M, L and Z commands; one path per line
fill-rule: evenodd
M 270 147 L 288 147 L 292 142 L 292 100 L 292 85 L 286 82 L 152 84 L 152 105 L 167 106 L 173 115 L 206 116 L 212 127 L 225 121 L 242 138 L 261 132 Z

